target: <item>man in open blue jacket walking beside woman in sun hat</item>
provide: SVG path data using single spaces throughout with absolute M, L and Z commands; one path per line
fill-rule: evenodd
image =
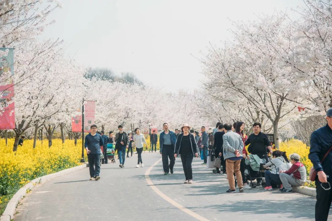
M 175 164 L 175 143 L 176 143 L 176 136 L 174 132 L 168 130 L 168 124 L 163 124 L 164 131 L 161 132 L 159 136 L 159 144 L 160 144 L 160 154 L 163 160 L 163 168 L 164 168 L 164 175 L 168 175 L 169 172 L 173 173 L 173 167 Z M 170 163 L 168 165 L 168 158 Z

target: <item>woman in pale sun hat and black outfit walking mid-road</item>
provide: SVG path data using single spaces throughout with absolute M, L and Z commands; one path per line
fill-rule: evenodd
M 188 124 L 183 124 L 181 133 L 176 139 L 174 157 L 181 154 L 181 161 L 183 166 L 183 171 L 185 173 L 186 181 L 185 184 L 193 183 L 193 170 L 191 164 L 193 162 L 194 156 L 197 157 L 197 145 L 195 136 L 189 133 L 190 127 Z

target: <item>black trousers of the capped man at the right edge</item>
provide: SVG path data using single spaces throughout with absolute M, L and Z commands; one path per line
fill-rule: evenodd
M 332 186 L 332 181 L 330 181 L 329 183 Z M 331 201 L 332 201 L 332 190 L 324 190 L 320 186 L 320 184 L 321 182 L 317 178 L 316 180 L 317 201 L 315 206 L 315 220 L 326 221 L 329 215 Z

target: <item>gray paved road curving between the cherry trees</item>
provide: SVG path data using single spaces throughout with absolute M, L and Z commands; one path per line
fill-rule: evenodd
M 173 175 L 164 176 L 159 162 L 145 176 L 160 154 L 143 153 L 142 159 L 143 168 L 135 168 L 137 155 L 126 158 L 125 168 L 118 161 L 103 164 L 100 181 L 89 181 L 86 168 L 37 185 L 18 206 L 14 220 L 197 220 L 184 211 L 206 220 L 314 219 L 315 199 L 311 197 L 262 188 L 225 193 L 226 177 L 213 174 L 200 159 L 193 162 L 192 185 L 183 184 L 180 158 Z M 148 178 L 154 186 L 148 185 Z

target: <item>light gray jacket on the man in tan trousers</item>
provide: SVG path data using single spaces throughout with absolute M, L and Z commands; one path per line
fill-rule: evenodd
M 224 159 L 236 157 L 235 150 L 239 150 L 242 156 L 243 140 L 237 133 L 233 131 L 227 131 L 222 136 L 223 139 L 223 155 Z

